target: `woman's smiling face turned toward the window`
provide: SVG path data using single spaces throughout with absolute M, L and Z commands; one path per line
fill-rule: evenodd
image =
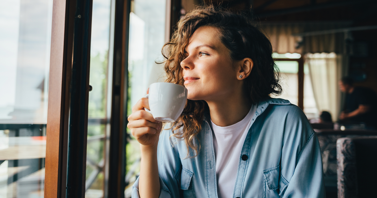
M 241 87 L 237 86 L 241 81 L 233 67 L 235 61 L 219 37 L 218 29 L 202 26 L 189 40 L 181 67 L 190 100 L 226 99 Z

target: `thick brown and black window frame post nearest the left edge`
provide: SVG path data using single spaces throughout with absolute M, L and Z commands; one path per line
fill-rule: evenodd
M 44 196 L 84 197 L 92 0 L 52 7 Z

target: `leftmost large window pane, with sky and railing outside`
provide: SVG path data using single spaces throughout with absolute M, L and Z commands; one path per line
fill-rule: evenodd
M 0 6 L 0 197 L 43 197 L 52 0 Z

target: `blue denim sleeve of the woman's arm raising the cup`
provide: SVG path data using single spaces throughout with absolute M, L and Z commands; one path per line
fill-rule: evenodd
M 171 130 L 162 130 L 158 141 L 159 198 L 179 198 L 178 181 L 180 181 L 181 177 L 182 164 L 179 158 L 178 146 L 175 142 L 170 141 L 171 134 Z M 139 197 L 139 178 L 137 178 L 132 186 L 132 198 Z

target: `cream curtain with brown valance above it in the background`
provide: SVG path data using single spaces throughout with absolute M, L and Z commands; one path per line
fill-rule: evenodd
M 345 53 L 345 35 L 343 33 L 304 37 L 295 35 L 303 32 L 346 28 L 350 25 L 347 21 L 262 22 L 260 24 L 262 31 L 270 38 L 274 52 L 306 54 L 305 61 L 309 66 L 318 112 L 330 112 L 333 121 L 337 120 L 342 103 L 338 81 L 348 71 L 348 57 L 340 55 Z

